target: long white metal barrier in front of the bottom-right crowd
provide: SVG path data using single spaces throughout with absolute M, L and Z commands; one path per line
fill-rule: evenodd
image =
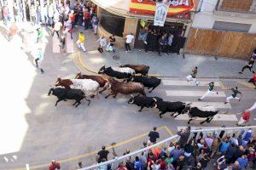
M 252 130 L 256 128 L 256 126 L 251 127 L 220 127 L 220 128 L 212 128 L 212 129 L 199 129 L 199 130 L 191 130 L 189 139 L 198 139 L 199 136 L 202 138 L 206 137 L 207 133 L 214 134 L 216 137 L 219 137 L 221 135 L 221 138 L 225 137 L 227 134 L 230 134 L 232 136 L 234 133 L 236 137 L 238 137 L 240 134 L 245 135 L 246 131 L 251 128 Z M 130 154 L 127 154 L 125 156 L 119 156 L 115 157 L 113 160 L 104 161 L 102 163 L 98 163 L 95 165 L 92 165 L 90 167 L 84 167 L 79 170 L 90 170 L 90 169 L 102 169 L 102 167 L 110 166 L 111 169 L 117 169 L 119 167 L 119 163 L 126 161 L 127 159 L 134 160 L 136 156 L 142 156 L 142 153 L 144 152 L 145 155 L 148 154 L 148 151 L 151 148 L 154 148 L 156 146 L 161 145 L 169 145 L 171 141 L 177 141 L 179 139 L 179 136 L 176 134 L 168 139 L 164 139 L 156 144 L 150 145 L 146 148 L 143 148 L 141 150 L 136 150 L 134 152 L 131 152 Z M 104 168 L 105 169 L 105 168 Z

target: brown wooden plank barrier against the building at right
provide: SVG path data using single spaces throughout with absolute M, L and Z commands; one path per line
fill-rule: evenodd
M 185 53 L 247 59 L 256 48 L 256 34 L 191 28 Z

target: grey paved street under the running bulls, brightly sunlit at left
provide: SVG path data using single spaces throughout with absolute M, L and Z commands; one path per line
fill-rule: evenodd
M 84 165 L 94 163 L 96 151 L 100 150 L 102 144 L 110 146 L 113 142 L 117 143 L 116 151 L 120 156 L 125 149 L 137 150 L 143 147 L 143 141 L 148 140 L 148 131 L 154 126 L 159 127 L 160 139 L 166 139 L 172 133 L 176 133 L 178 128 L 187 126 L 188 116 L 177 116 L 174 119 L 170 113 L 166 113 L 160 119 L 159 111 L 156 109 L 146 108 L 142 112 L 137 112 L 139 108 L 136 105 L 127 104 L 130 96 L 118 94 L 116 99 L 112 97 L 104 99 L 108 92 L 100 94 L 99 99 L 92 99 L 89 106 L 83 100 L 78 108 L 73 107 L 73 101 L 61 101 L 55 107 L 55 96 L 47 96 L 47 93 L 57 75 L 72 78 L 78 71 L 90 73 L 84 65 L 96 71 L 104 63 L 106 65 L 130 62 L 143 64 L 145 59 L 137 61 L 134 55 L 135 57 L 131 60 L 128 57 L 121 57 L 117 61 L 112 59 L 112 54 L 104 54 L 105 58 L 102 60 L 102 57 L 94 51 L 97 47 L 96 37 L 90 31 L 86 31 L 88 42 L 85 47 L 89 52 L 81 55 L 71 40 L 67 42 L 70 44 L 67 48 L 73 53 L 63 54 L 56 38 L 52 40 L 51 37 L 47 37 L 48 43 L 43 63 L 45 73 L 41 74 L 34 66 L 32 55 L 20 48 L 21 37 L 8 42 L 4 37 L 3 28 L 1 32 L 0 46 L 3 49 L 3 60 L 0 62 L 2 68 L 0 74 L 4 83 L 1 84 L 3 92 L 0 110 L 2 113 L 0 116 L 0 133 L 2 134 L 0 169 L 24 168 L 27 162 L 31 167 L 45 169 L 52 159 L 61 161 L 62 169 L 74 169 L 79 161 L 83 161 Z M 45 31 L 47 32 L 48 30 Z M 154 56 L 153 53 L 150 55 L 139 51 L 134 53 L 150 59 Z M 117 54 L 123 54 L 121 49 Z M 91 55 L 95 58 L 92 59 Z M 192 128 L 236 126 L 237 119 L 240 118 L 236 113 L 249 108 L 256 100 L 256 91 L 247 84 L 247 79 L 241 79 L 250 75 L 237 76 L 238 68 L 244 65 L 244 60 L 218 59 L 216 61 L 214 58 L 202 56 L 196 58 L 196 62 L 201 62 L 202 70 L 206 71 L 199 73 L 201 84 L 195 87 L 193 82 L 186 82 L 183 78 L 193 67 L 189 64 L 189 59 L 195 60 L 195 56 L 189 58 L 188 55 L 182 60 L 181 55 L 173 54 L 175 62 L 169 62 L 167 65 L 166 62 L 170 59 L 167 56 L 163 57 L 163 60 L 159 57 L 155 58 L 152 64 L 150 59 L 146 59 L 145 64 L 150 64 L 150 67 L 152 65 L 150 73 L 163 74 L 160 72 L 163 68 L 166 73 L 172 72 L 173 77 L 160 77 L 162 79 L 160 87 L 156 88 L 152 94 L 147 92 L 148 96 L 159 96 L 168 101 L 193 102 L 193 105 L 213 105 L 219 109 L 220 114 L 215 116 L 212 122 L 200 125 L 200 121 L 197 120 L 190 123 Z M 177 65 L 178 60 L 186 63 L 184 69 L 181 65 Z M 214 68 L 215 71 L 222 72 L 224 75 L 212 74 L 214 78 L 207 78 L 213 71 L 207 72 L 205 61 L 207 65 L 212 65 L 212 67 L 209 66 L 211 69 Z M 222 61 L 224 64 L 217 67 L 216 62 Z M 155 65 L 156 62 L 159 63 Z M 226 63 L 234 67 L 225 70 Z M 177 67 L 180 68 L 178 71 Z M 169 68 L 170 71 L 168 71 Z M 233 78 L 218 78 L 225 75 Z M 212 81 L 216 82 L 215 89 L 219 94 L 198 101 L 197 99 L 207 92 L 207 86 L 203 85 Z M 224 105 L 225 98 L 230 96 L 229 88 L 235 86 L 241 89 L 243 94 L 241 102 L 231 100 L 230 104 Z M 228 111 L 227 114 L 226 111 Z M 255 111 L 252 114 L 251 125 L 255 125 L 254 113 Z M 110 154 L 109 158 L 112 157 Z

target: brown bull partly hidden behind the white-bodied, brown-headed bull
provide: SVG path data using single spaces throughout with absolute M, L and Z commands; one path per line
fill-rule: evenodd
M 100 94 L 103 91 L 105 91 L 106 89 L 108 89 L 108 87 L 109 87 L 108 79 L 105 79 L 105 78 L 100 77 L 100 76 L 83 75 L 81 72 L 79 72 L 75 78 L 77 78 L 77 79 L 90 79 L 90 80 L 94 80 L 94 81 L 98 82 L 100 84 L 100 87 L 103 88 L 102 91 L 99 92 Z

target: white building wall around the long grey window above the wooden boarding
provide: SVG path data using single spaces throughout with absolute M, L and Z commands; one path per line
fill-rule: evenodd
M 192 27 L 201 29 L 212 29 L 215 21 L 235 22 L 252 25 L 249 32 L 256 33 L 256 14 L 254 18 L 234 17 L 232 14 L 214 14 L 218 0 L 203 0 L 201 12 L 195 14 Z

